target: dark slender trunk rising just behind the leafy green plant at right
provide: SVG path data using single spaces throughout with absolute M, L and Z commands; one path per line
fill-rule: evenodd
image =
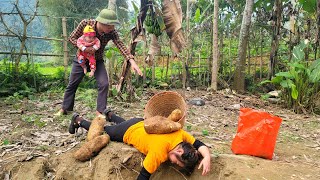
M 281 26 L 281 12 L 282 5 L 281 0 L 276 0 L 274 3 L 274 11 L 272 12 L 272 22 L 273 22 L 273 36 L 271 42 L 271 52 L 270 52 L 270 64 L 268 79 L 275 74 L 275 67 L 277 65 L 277 55 L 280 40 L 280 26 Z

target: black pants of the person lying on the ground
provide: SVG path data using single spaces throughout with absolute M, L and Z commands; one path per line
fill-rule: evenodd
M 143 118 L 132 118 L 126 121 L 122 117 L 112 114 L 110 122 L 114 122 L 116 125 L 105 126 L 104 131 L 110 136 L 111 141 L 123 142 L 124 133 L 126 133 L 128 128 L 140 121 L 143 121 Z M 87 120 L 80 122 L 80 126 L 86 130 L 89 130 L 90 125 L 91 122 Z

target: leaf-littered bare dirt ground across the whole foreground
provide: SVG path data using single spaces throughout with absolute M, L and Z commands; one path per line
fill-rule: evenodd
M 148 91 L 135 103 L 110 102 L 117 114 L 142 117 Z M 320 179 L 320 117 L 297 115 L 253 96 L 180 92 L 189 101 L 205 100 L 204 106 L 188 105 L 186 126 L 191 134 L 205 142 L 212 152 L 212 169 L 208 176 L 196 170 L 185 177 L 167 163 L 152 179 Z M 0 178 L 1 179 L 135 179 L 141 169 L 143 155 L 122 143 L 111 142 L 98 156 L 81 163 L 73 153 L 83 142 L 85 131 L 75 137 L 67 133 L 71 115 L 53 118 L 59 108 L 61 94 L 46 93 L 34 100 L 0 100 Z M 237 130 L 241 105 L 265 110 L 280 116 L 283 122 L 277 138 L 273 160 L 233 155 L 230 144 Z M 93 109 L 77 102 L 76 110 L 88 119 Z M 203 135 L 203 130 L 208 135 Z

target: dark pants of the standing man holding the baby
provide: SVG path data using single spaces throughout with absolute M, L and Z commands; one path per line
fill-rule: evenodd
M 87 67 L 89 66 L 87 65 Z M 94 77 L 96 78 L 98 84 L 97 111 L 103 112 L 107 107 L 109 79 L 103 60 L 97 60 L 96 68 L 97 69 L 94 73 Z M 62 103 L 63 110 L 73 110 L 75 94 L 84 75 L 83 68 L 78 63 L 77 58 L 74 58 L 69 77 L 69 84 L 64 93 Z

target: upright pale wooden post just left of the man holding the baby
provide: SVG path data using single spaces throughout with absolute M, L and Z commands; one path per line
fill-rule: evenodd
M 68 38 L 67 38 L 67 19 L 62 17 L 62 35 L 63 35 L 63 66 L 64 66 L 64 81 L 68 83 Z

